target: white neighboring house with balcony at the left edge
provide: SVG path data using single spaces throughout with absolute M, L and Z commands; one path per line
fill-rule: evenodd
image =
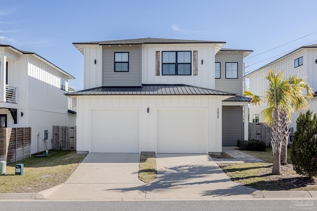
M 36 53 L 0 44 L 0 127 L 32 127 L 31 154 L 46 150 L 44 130 L 52 149 L 53 125 L 76 125 L 64 95 L 68 79 L 74 77 Z

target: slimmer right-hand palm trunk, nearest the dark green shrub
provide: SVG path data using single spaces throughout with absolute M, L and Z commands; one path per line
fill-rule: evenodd
M 281 165 L 287 165 L 287 143 L 289 136 L 289 117 L 285 110 L 281 112 L 281 123 L 282 123 L 282 147 L 281 147 Z

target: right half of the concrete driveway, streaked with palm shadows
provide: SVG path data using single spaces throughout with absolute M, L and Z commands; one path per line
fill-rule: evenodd
M 147 185 L 147 199 L 219 199 L 263 197 L 234 183 L 203 154 L 157 154 L 158 178 Z

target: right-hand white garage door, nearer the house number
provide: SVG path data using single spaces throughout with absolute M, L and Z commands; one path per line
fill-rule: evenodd
M 206 153 L 205 110 L 158 110 L 158 153 Z

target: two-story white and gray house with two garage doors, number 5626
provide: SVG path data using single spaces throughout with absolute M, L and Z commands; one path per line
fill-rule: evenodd
M 221 152 L 248 137 L 240 95 L 252 51 L 156 38 L 73 44 L 84 55 L 84 90 L 67 94 L 78 152 Z

